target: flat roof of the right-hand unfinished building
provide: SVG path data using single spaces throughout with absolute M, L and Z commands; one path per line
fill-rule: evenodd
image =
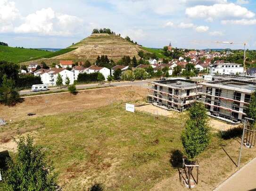
M 219 81 L 212 81 L 207 83 L 201 84 L 212 84 L 212 86 L 230 90 L 236 90 L 241 92 L 253 92 L 256 90 L 256 83 L 245 81 L 245 80 L 238 80 L 238 79 L 226 79 L 226 80 L 219 80 Z

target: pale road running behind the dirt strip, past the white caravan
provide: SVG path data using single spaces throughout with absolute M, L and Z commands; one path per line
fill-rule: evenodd
M 142 80 L 142 81 L 134 81 L 134 82 L 113 82 L 110 85 L 114 86 L 126 86 L 126 85 L 132 85 L 132 86 L 140 86 L 147 88 L 148 87 L 148 80 Z M 76 85 L 77 90 L 86 89 L 86 88 L 94 88 L 94 87 L 108 87 L 108 83 L 99 85 L 97 84 L 78 84 Z M 57 87 L 50 87 L 48 91 L 44 92 L 59 92 L 61 90 L 66 90 L 66 88 L 58 89 Z M 35 94 L 36 92 L 31 92 L 31 90 L 22 90 L 19 92 L 20 95 L 30 95 Z

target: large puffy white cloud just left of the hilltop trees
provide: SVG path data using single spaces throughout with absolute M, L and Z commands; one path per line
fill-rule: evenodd
M 25 17 L 25 23 L 15 28 L 17 33 L 39 33 L 42 35 L 71 35 L 82 23 L 81 19 L 72 15 L 55 13 L 52 8 L 42 8 Z

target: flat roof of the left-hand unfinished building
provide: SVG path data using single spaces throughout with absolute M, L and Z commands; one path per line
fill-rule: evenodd
M 195 81 L 185 80 L 185 79 L 169 79 L 169 80 L 159 80 L 154 83 L 163 84 L 165 86 L 176 87 L 176 88 L 192 88 L 196 86 Z

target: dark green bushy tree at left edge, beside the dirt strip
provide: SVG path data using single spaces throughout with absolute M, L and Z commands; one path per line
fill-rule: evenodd
M 0 102 L 12 106 L 17 103 L 19 98 L 19 93 L 15 90 L 14 80 L 8 79 L 7 75 L 4 75 L 0 86 Z

